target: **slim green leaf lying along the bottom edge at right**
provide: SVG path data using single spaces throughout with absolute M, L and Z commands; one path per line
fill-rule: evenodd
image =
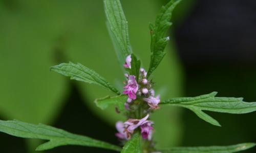
M 241 143 L 229 146 L 209 146 L 209 147 L 173 147 L 160 149 L 162 153 L 232 153 L 254 147 L 255 143 Z

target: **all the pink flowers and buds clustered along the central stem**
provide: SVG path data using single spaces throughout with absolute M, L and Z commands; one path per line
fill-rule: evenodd
M 131 66 L 132 57 L 131 55 L 126 57 L 126 61 L 123 64 L 124 68 L 127 71 L 132 69 Z M 158 104 L 160 103 L 160 96 L 155 97 L 155 91 L 152 88 L 152 82 L 147 80 L 147 72 L 140 68 L 139 78 L 136 78 L 135 75 L 125 74 L 126 81 L 125 86 L 123 88 L 123 94 L 127 95 L 128 98 L 125 102 L 126 110 L 131 111 L 130 106 L 138 104 L 135 101 L 142 102 L 142 105 L 145 104 L 146 107 L 143 107 L 142 115 L 145 116 L 141 119 L 133 119 L 130 118 L 126 122 L 117 122 L 116 128 L 118 133 L 116 133 L 116 137 L 121 140 L 129 140 L 131 135 L 134 133 L 134 130 L 140 127 L 141 137 L 146 140 L 152 139 L 153 122 L 148 120 L 150 117 L 150 111 L 156 110 L 159 108 Z M 136 107 L 138 109 L 138 107 Z

